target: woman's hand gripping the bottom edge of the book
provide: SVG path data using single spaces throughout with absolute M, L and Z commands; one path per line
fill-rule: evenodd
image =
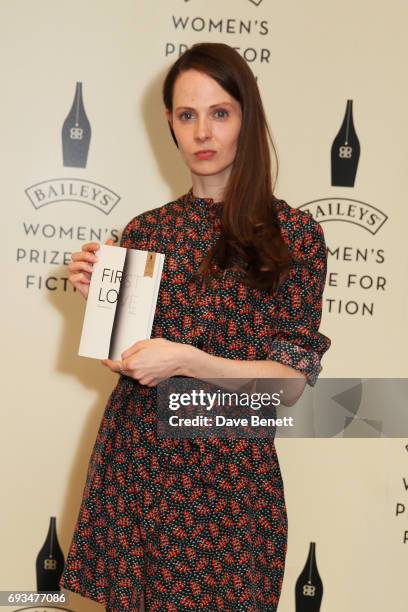
M 122 361 L 104 359 L 102 363 L 112 372 L 138 380 L 142 385 L 154 387 L 162 380 L 182 374 L 188 359 L 189 344 L 172 342 L 166 338 L 139 340 L 122 353 Z

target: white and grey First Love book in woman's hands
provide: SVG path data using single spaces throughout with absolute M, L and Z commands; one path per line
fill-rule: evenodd
M 78 354 L 120 361 L 151 336 L 165 255 L 102 245 L 96 256 Z

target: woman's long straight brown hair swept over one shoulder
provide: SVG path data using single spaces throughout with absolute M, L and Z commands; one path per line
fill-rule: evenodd
M 224 192 L 221 232 L 198 272 L 208 279 L 233 265 L 242 282 L 276 290 L 292 261 L 277 221 L 269 143 L 278 158 L 255 76 L 247 62 L 229 45 L 197 43 L 171 66 L 163 83 L 163 101 L 173 111 L 178 75 L 194 69 L 213 78 L 241 105 L 242 122 L 237 154 Z M 177 140 L 169 122 L 174 142 Z M 277 175 L 277 173 L 276 173 Z

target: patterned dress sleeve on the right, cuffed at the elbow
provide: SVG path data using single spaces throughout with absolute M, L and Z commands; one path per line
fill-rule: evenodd
M 309 213 L 301 219 L 291 249 L 295 263 L 274 298 L 267 359 L 299 370 L 313 387 L 322 370 L 321 358 L 331 345 L 319 332 L 327 248 L 321 225 Z

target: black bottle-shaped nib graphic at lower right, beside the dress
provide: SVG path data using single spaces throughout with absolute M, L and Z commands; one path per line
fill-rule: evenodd
M 319 612 L 323 597 L 323 583 L 316 564 L 316 544 L 310 542 L 309 555 L 296 581 L 296 612 Z

